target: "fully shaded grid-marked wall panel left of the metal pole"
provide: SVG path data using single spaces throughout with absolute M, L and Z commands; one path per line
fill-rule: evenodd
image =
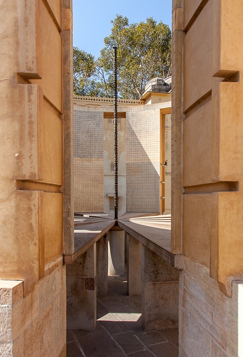
M 74 107 L 74 211 L 103 212 L 103 112 Z

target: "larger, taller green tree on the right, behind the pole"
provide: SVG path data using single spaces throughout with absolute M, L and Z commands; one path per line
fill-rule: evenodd
M 112 87 L 113 47 L 117 46 L 118 90 L 123 98 L 139 99 L 145 85 L 154 77 L 171 75 L 171 31 L 152 17 L 146 22 L 129 24 L 128 18 L 117 15 L 109 37 L 98 59 Z

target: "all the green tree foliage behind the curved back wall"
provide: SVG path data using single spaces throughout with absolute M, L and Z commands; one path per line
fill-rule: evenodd
M 80 51 L 80 59 L 88 63 L 80 66 L 81 75 L 75 77 L 75 93 L 113 96 L 113 47 L 117 46 L 119 96 L 139 99 L 149 80 L 171 75 L 171 31 L 152 17 L 129 24 L 127 17 L 117 15 L 112 24 L 111 35 L 105 37 L 105 46 L 96 61 Z

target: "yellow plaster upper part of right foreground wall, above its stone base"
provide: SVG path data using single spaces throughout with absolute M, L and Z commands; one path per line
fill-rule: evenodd
M 174 2 L 174 34 L 184 30 L 183 43 L 177 41 L 183 48 L 183 81 L 174 77 L 175 87 L 183 86 L 181 112 L 176 113 L 183 125 L 182 155 L 173 167 L 182 165 L 182 253 L 210 267 L 229 296 L 231 281 L 243 274 L 241 10 L 243 4 L 229 0 Z M 176 215 L 173 220 L 180 222 Z M 173 239 L 175 245 L 178 238 Z

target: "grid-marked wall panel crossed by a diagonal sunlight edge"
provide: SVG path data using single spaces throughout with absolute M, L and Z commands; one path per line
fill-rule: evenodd
M 127 212 L 159 212 L 160 108 L 127 111 Z

